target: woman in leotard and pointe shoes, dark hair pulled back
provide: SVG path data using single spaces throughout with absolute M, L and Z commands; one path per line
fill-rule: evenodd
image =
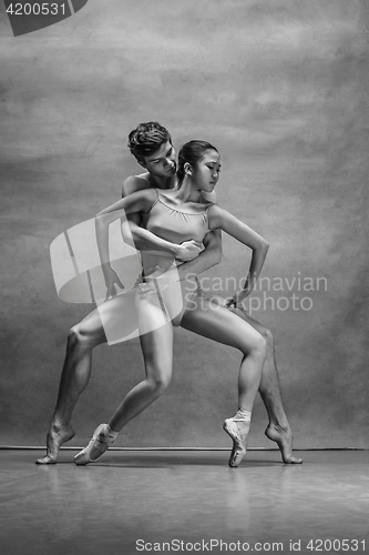
M 125 214 L 140 212 L 144 226 L 164 240 L 202 243 L 209 230 L 221 229 L 253 250 L 245 287 L 236 295 L 240 303 L 253 290 L 262 271 L 268 243 L 227 211 L 204 203 L 203 192 L 213 191 L 221 170 L 219 153 L 204 141 L 186 143 L 178 154 L 178 188 L 144 190 L 131 194 L 96 216 L 98 245 L 106 284 L 116 280 L 109 264 L 109 224 Z M 168 385 L 172 375 L 173 325 L 193 331 L 244 355 L 238 377 L 238 411 L 224 430 L 234 442 L 229 466 L 238 466 L 246 454 L 250 416 L 262 376 L 266 345 L 247 322 L 207 299 L 198 283 L 178 281 L 176 265 L 163 252 L 142 252 L 144 283 L 137 286 L 136 307 L 146 377 L 123 400 L 109 422 L 95 430 L 89 445 L 75 457 L 78 465 L 96 461 L 122 427 L 144 411 Z M 195 291 L 194 291 L 195 289 Z M 160 385 L 157 384 L 160 382 Z

